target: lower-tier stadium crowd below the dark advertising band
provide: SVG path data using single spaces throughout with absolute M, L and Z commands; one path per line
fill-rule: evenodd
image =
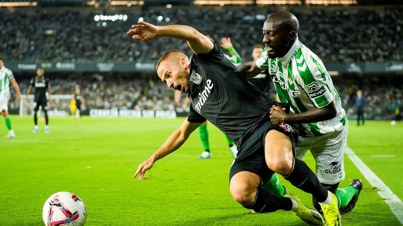
M 155 76 L 156 78 L 156 76 Z M 72 95 L 75 87 L 81 88 L 81 94 L 86 101 L 87 109 L 135 109 L 135 110 L 177 110 L 182 111 L 182 104 L 175 103 L 174 90 L 166 88 L 166 84 L 160 80 L 146 78 L 123 78 L 119 76 L 103 77 L 99 74 L 87 75 L 77 79 L 51 79 L 52 95 Z M 359 84 L 356 78 L 341 78 L 334 84 L 342 99 L 343 108 L 347 117 L 355 118 L 355 96 L 357 90 L 363 91 L 366 99 L 367 119 L 393 119 L 395 110 L 403 112 L 403 85 L 395 84 L 393 79 L 382 80 L 382 77 L 374 77 L 372 80 L 364 80 Z M 77 82 L 79 81 L 79 82 Z M 22 93 L 29 86 L 29 80 L 17 81 Z M 379 83 L 382 86 L 378 86 Z M 9 108 L 18 109 L 15 91 L 11 90 Z M 275 90 L 271 89 L 275 98 Z M 182 95 L 182 101 L 186 95 Z M 68 109 L 69 101 L 60 102 L 57 106 L 51 102 L 50 109 Z M 53 106 L 52 106 L 53 105 Z

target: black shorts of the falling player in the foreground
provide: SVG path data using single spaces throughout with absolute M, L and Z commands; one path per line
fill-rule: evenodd
M 280 123 L 273 125 L 271 122 L 265 123 L 258 127 L 251 137 L 241 146 L 238 150 L 238 155 L 235 158 L 230 172 L 229 180 L 241 171 L 248 171 L 259 175 L 262 184 L 266 182 L 274 174 L 266 164 L 264 157 L 264 143 L 268 131 L 275 129 L 288 138 L 290 138 L 293 145 L 293 154 L 295 155 L 295 147 L 298 142 L 298 134 L 292 125 L 287 123 Z

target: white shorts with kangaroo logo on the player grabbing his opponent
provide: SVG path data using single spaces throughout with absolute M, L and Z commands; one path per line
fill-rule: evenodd
M 341 131 L 323 136 L 298 137 L 295 158 L 303 159 L 308 150 L 316 162 L 320 183 L 334 185 L 344 180 L 344 150 L 347 143 L 348 121 Z

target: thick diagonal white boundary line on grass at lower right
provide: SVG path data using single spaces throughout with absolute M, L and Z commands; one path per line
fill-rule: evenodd
M 378 176 L 351 150 L 346 146 L 345 153 L 349 156 L 350 160 L 357 166 L 359 171 L 364 175 L 372 187 L 379 189 L 378 194 L 385 199 L 385 202 L 391 208 L 397 220 L 403 225 L 403 202 L 391 191 L 391 189 L 379 179 Z

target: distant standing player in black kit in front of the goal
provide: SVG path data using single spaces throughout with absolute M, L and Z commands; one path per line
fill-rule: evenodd
M 33 121 L 35 122 L 35 127 L 32 130 L 33 133 L 38 133 L 39 132 L 39 127 L 38 127 L 38 119 L 37 119 L 37 112 L 39 110 L 39 106 L 42 107 L 42 111 L 45 113 L 45 120 L 46 120 L 46 125 L 45 125 L 45 133 L 50 133 L 49 130 L 49 117 L 48 117 L 48 109 L 46 109 L 47 103 L 50 103 L 50 82 L 49 78 L 45 78 L 44 76 L 45 72 L 43 68 L 38 68 L 36 70 L 36 76 L 35 78 L 31 79 L 30 86 L 27 91 L 27 102 L 28 102 L 28 95 L 32 91 L 32 87 L 35 88 L 34 91 L 34 101 L 36 103 L 35 108 L 33 109 L 34 114 L 33 114 Z M 46 98 L 46 91 L 48 91 L 48 98 Z

